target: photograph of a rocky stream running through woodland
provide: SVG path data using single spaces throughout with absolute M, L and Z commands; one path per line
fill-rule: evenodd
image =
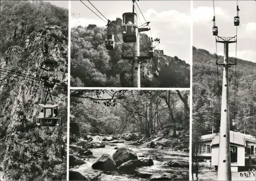
M 189 90 L 71 90 L 69 180 L 188 180 Z

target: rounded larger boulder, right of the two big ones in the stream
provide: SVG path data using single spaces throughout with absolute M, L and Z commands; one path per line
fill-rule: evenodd
M 116 165 L 120 166 L 122 163 L 129 160 L 138 160 L 138 157 L 135 151 L 121 147 L 113 154 L 113 159 L 116 162 Z

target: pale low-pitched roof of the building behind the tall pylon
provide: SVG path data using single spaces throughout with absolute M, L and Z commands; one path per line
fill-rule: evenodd
M 251 135 L 246 135 L 243 133 L 233 132 L 233 131 L 230 131 L 229 134 L 230 134 L 230 143 L 234 143 L 234 144 L 238 144 L 238 145 L 242 145 L 242 146 L 246 146 L 246 141 L 256 143 L 255 137 L 253 137 Z M 219 144 L 220 133 L 214 133 L 214 134 L 201 136 L 202 142 L 209 141 L 209 140 L 212 140 L 211 145 Z

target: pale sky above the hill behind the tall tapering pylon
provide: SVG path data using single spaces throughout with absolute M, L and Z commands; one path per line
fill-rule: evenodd
M 240 25 L 237 37 L 237 58 L 256 63 L 256 1 L 238 1 Z M 193 45 L 216 53 L 212 35 L 214 8 L 212 1 L 193 2 Z M 237 1 L 215 1 L 215 19 L 219 36 L 236 35 L 233 18 L 237 15 Z M 217 44 L 218 55 L 224 54 L 223 43 Z M 229 44 L 229 56 L 236 56 L 236 43 Z

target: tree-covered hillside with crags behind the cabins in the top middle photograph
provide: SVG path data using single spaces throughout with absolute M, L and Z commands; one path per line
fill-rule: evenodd
M 121 26 L 120 18 L 112 22 Z M 121 56 L 132 56 L 133 43 L 120 43 L 121 29 L 113 26 L 113 30 L 117 35 L 115 49 L 106 50 L 106 28 L 90 24 L 71 29 L 72 87 L 132 87 L 132 64 Z M 146 34 L 140 34 L 140 56 L 146 56 L 148 41 Z M 141 64 L 141 74 L 150 70 L 149 76 L 141 76 L 141 87 L 189 87 L 190 66 L 184 60 L 163 55 L 159 67 L 159 77 L 154 77 L 148 63 Z

